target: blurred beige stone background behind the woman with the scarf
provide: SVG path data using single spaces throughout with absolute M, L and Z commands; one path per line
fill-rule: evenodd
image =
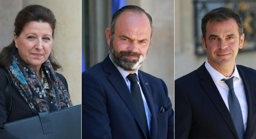
M 81 104 L 81 0 L 0 0 L 0 50 L 13 40 L 14 21 L 27 5 L 52 10 L 57 20 L 52 48 L 62 65 L 73 104 Z

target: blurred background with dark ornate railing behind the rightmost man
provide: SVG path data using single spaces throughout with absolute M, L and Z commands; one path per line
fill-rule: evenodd
M 200 37 L 201 19 L 218 7 L 237 12 L 244 22 L 245 42 L 236 64 L 256 69 L 256 1 L 253 0 L 176 0 L 175 1 L 175 79 L 200 67 L 206 60 Z

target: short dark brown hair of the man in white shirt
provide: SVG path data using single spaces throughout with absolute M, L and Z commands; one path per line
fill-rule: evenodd
M 205 34 L 206 34 L 206 25 L 208 22 L 223 22 L 226 21 L 230 18 L 233 18 L 236 20 L 238 24 L 238 32 L 239 36 L 243 34 L 244 28 L 243 28 L 243 21 L 242 18 L 235 13 L 233 10 L 226 8 L 226 7 L 219 7 L 216 9 L 211 10 L 208 12 L 206 15 L 204 15 L 202 22 L 201 22 L 201 30 L 202 30 L 202 35 L 205 39 Z

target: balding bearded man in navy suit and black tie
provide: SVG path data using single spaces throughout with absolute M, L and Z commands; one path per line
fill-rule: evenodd
M 82 73 L 83 138 L 174 138 L 166 84 L 138 70 L 153 38 L 151 16 L 124 6 L 105 33 L 110 54 Z

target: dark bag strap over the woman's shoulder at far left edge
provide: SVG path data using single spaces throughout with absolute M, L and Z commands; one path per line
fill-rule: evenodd
M 3 70 L 2 68 L 0 68 L 0 69 Z M 11 107 L 12 107 L 12 90 L 11 90 L 11 82 L 7 76 L 7 73 L 5 72 L 5 70 L 3 70 L 3 72 L 5 73 L 6 78 L 9 82 L 5 88 L 5 91 L 6 91 L 6 119 L 7 119 L 8 115 L 11 112 Z

